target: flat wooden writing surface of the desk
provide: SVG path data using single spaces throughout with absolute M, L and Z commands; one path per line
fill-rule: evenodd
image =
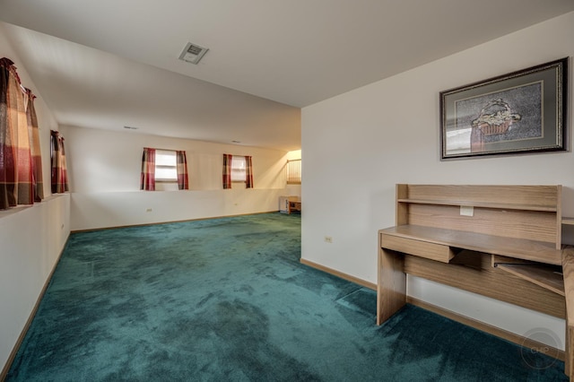
M 379 230 L 381 235 L 425 241 L 447 247 L 457 247 L 492 255 L 509 256 L 545 264 L 561 265 L 561 250 L 554 243 L 527 239 L 513 239 L 463 230 L 444 230 L 434 227 L 405 224 Z M 384 240 L 381 240 L 384 245 Z

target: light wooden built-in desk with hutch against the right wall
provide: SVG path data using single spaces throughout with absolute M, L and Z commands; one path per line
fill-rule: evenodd
M 561 186 L 396 185 L 396 226 L 378 231 L 378 325 L 406 303 L 406 273 L 565 318 L 574 376 Z

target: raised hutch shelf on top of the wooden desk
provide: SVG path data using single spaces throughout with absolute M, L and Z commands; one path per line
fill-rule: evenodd
M 399 184 L 396 225 L 404 224 L 548 242 L 561 249 L 561 186 Z

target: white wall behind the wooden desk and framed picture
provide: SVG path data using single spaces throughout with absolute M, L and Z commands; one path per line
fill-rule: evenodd
M 395 223 L 396 183 L 561 184 L 563 213 L 574 216 L 572 152 L 439 161 L 439 91 L 574 56 L 572 36 L 568 13 L 303 109 L 302 257 L 376 282 L 377 230 Z M 415 278 L 408 287 L 414 297 L 517 334 L 526 332 L 519 324 L 530 320 L 526 315 L 534 317 L 563 341 L 561 320 L 496 309 L 492 301 Z

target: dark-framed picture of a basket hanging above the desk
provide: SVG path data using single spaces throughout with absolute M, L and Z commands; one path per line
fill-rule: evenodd
M 567 150 L 568 60 L 441 91 L 441 160 Z

